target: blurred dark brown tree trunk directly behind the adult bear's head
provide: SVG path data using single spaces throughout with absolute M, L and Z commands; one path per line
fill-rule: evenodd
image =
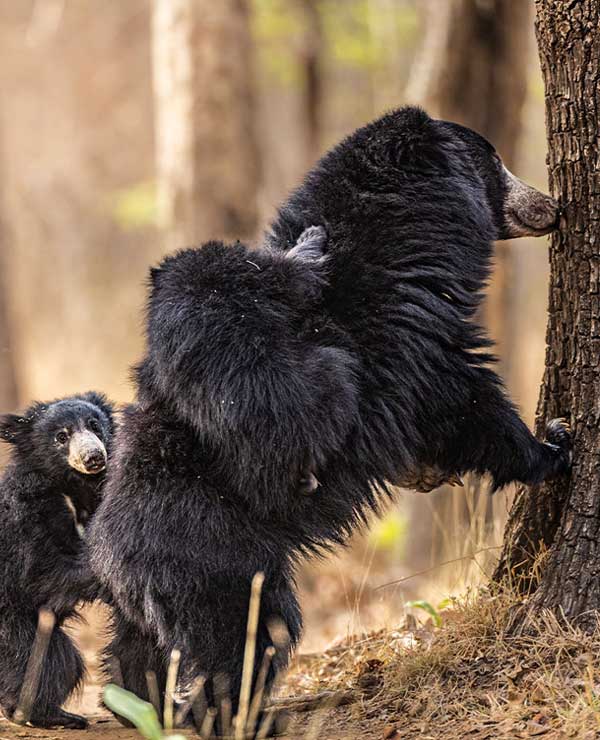
M 531 2 L 425 0 L 419 7 L 424 33 L 407 84 L 407 99 L 431 115 L 479 131 L 494 144 L 505 165 L 514 169 L 519 163 L 527 95 Z M 501 372 L 508 381 L 515 357 L 515 269 L 513 242 L 498 242 L 494 273 L 478 318 L 497 344 Z M 477 482 L 467 496 L 446 486 L 427 503 L 418 501 L 415 520 L 426 526 L 427 517 L 421 513 L 424 506 L 431 508 L 434 518 L 433 532 L 429 528 L 431 544 L 423 547 L 428 538 L 428 532 L 423 532 L 418 551 L 443 557 L 447 549 L 444 530 L 451 519 L 460 522 L 461 528 L 470 527 L 472 520 L 477 526 L 493 528 L 493 503 Z

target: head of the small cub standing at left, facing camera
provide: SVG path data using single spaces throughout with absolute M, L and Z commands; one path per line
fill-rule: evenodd
M 0 439 L 51 481 L 104 471 L 113 431 L 111 404 L 95 392 L 34 403 L 22 415 L 0 417 Z

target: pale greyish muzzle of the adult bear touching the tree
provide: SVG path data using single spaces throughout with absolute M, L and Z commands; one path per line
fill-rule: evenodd
M 549 195 L 519 180 L 504 168 L 506 197 L 501 239 L 517 236 L 543 236 L 558 226 L 558 203 Z

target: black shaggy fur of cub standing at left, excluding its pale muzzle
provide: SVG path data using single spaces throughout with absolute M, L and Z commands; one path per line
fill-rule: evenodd
M 73 430 L 87 430 L 86 439 L 93 435 L 99 449 L 109 449 L 112 407 L 103 395 L 36 403 L 22 416 L 0 417 L 0 439 L 13 445 L 0 480 L 0 709 L 12 717 L 38 610 L 52 609 L 56 626 L 31 717 L 41 727 L 86 725 L 61 709 L 84 675 L 82 658 L 62 625 L 79 600 L 95 596 L 77 523 L 85 524 L 94 513 L 104 473 L 86 475 L 69 465 L 69 439 L 63 439 Z

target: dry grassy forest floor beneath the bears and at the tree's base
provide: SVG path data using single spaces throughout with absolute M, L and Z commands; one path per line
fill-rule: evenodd
M 600 630 L 586 635 L 540 615 L 522 634 L 507 625 L 517 605 L 485 591 L 442 612 L 442 623 L 410 619 L 396 630 L 347 638 L 295 659 L 282 697 L 330 695 L 292 715 L 290 738 L 305 740 L 515 740 L 600 738 Z M 82 646 L 94 657 L 91 646 Z M 98 713 L 99 687 L 78 709 L 85 732 L 41 731 L 0 722 L 0 740 L 126 740 L 139 737 Z M 343 706 L 332 707 L 343 697 Z M 283 701 L 283 698 L 280 700 Z M 73 707 L 75 708 L 75 707 Z

